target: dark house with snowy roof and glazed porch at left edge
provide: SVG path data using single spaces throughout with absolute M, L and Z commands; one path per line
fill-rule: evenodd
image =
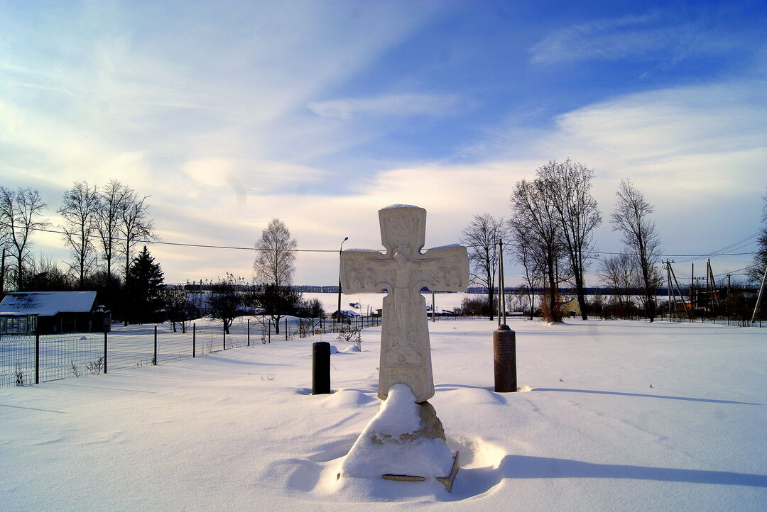
M 110 324 L 96 292 L 12 292 L 0 302 L 0 334 L 104 332 Z

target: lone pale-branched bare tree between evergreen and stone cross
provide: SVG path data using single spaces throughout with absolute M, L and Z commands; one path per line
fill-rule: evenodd
M 255 243 L 255 281 L 278 287 L 291 285 L 295 271 L 295 248 L 295 239 L 291 238 L 285 223 L 272 219 Z

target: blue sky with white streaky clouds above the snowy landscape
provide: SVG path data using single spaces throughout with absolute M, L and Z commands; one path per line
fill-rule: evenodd
M 55 225 L 74 181 L 117 178 L 163 241 L 214 245 L 279 217 L 304 248 L 374 248 L 377 209 L 418 204 L 432 246 L 570 157 L 604 218 L 630 178 L 667 253 L 707 253 L 759 230 L 765 21 L 764 0 L 0 2 L 0 183 Z M 608 223 L 597 246 L 620 249 Z M 250 276 L 245 251 L 152 250 L 168 281 Z M 336 276 L 299 256 L 297 282 Z

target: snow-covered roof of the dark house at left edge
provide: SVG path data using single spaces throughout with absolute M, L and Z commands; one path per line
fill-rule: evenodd
M 96 292 L 11 292 L 0 302 L 0 315 L 87 313 L 94 302 Z

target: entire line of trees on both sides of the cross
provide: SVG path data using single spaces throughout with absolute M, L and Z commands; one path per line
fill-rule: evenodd
M 551 321 L 561 320 L 563 300 L 559 289 L 566 283 L 575 289 L 581 318 L 603 308 L 615 316 L 644 315 L 651 321 L 655 318 L 658 307 L 655 292 L 663 282 L 663 273 L 658 256 L 660 234 L 651 218 L 654 208 L 634 184 L 621 181 L 610 220 L 613 230 L 621 233 L 624 250 L 599 259 L 593 233 L 602 217 L 591 195 L 593 178 L 591 168 L 569 158 L 549 161 L 536 170 L 534 179 L 514 184 L 509 197 L 509 220 L 490 214 L 473 217 L 463 230 L 461 241 L 469 250 L 472 282 L 486 287 L 488 297 L 483 304 L 467 303 L 464 310 L 482 311 L 493 318 L 498 302 L 494 296 L 495 269 L 502 241 L 511 249 L 512 259 L 522 266 L 525 284 L 519 287 L 517 295 L 527 296 L 527 305 L 522 305 L 521 298 L 519 302 L 531 315 L 535 310 L 532 291 L 538 287 L 544 290 L 539 314 Z M 141 197 L 117 180 L 104 187 L 91 187 L 81 181 L 67 189 L 57 210 L 62 222 L 56 226 L 70 250 L 68 269 L 62 271 L 46 256 L 32 257 L 32 233 L 51 227 L 43 217 L 47 204 L 38 191 L 0 186 L 0 248 L 4 255 L 0 296 L 9 289 L 96 290 L 100 305 L 106 305 L 116 318 L 125 321 L 147 321 L 151 316 L 147 314 L 149 310 L 163 310 L 173 318 L 189 316 L 189 311 L 179 311 L 186 308 L 183 303 L 189 302 L 188 298 L 181 301 L 172 296 L 188 292 L 189 286 L 164 285 L 162 271 L 153 263 L 146 246 L 136 253 L 141 240 L 156 239 L 146 203 L 148 197 Z M 767 266 L 767 196 L 762 221 L 765 226 L 758 239 L 759 253 L 748 269 L 752 280 L 761 279 L 761 269 Z M 291 287 L 296 242 L 288 227 L 275 218 L 263 230 L 255 247 L 251 283 L 225 272 L 225 277 L 207 282 L 207 287 L 218 290 L 214 295 L 230 295 L 224 302 L 237 302 L 240 308 L 266 305 L 262 309 L 269 311 L 278 331 L 281 316 L 308 310 L 308 305 L 301 302 L 301 294 Z M 120 258 L 122 262 L 118 264 Z M 598 260 L 602 284 L 614 292 L 608 304 L 590 304 L 584 295 L 584 273 L 594 260 Z M 159 285 L 147 284 L 147 279 Z M 639 307 L 631 297 L 637 289 L 641 290 Z M 230 307 L 222 304 L 219 309 L 227 308 Z M 228 327 L 227 320 L 221 320 Z

